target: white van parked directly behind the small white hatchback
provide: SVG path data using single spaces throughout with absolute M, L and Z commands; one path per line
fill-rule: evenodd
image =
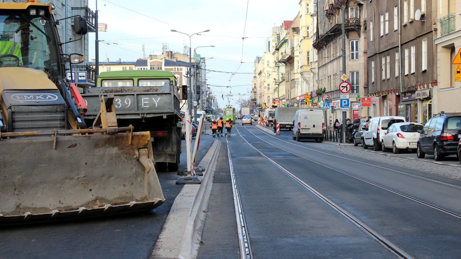
M 370 119 L 362 135 L 362 147 L 372 146 L 374 151 L 381 149 L 380 133 L 384 133 L 390 125 L 398 122 L 406 122 L 402 116 L 381 116 Z

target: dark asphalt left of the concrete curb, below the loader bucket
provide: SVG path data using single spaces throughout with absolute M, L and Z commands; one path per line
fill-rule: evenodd
M 201 138 L 198 163 L 213 140 L 211 136 Z M 185 151 L 184 140 L 182 146 Z M 185 166 L 183 152 L 179 168 Z M 157 172 L 157 175 L 166 201 L 156 209 L 104 218 L 2 227 L 0 258 L 148 258 L 171 205 L 183 188 L 175 184 L 176 172 Z

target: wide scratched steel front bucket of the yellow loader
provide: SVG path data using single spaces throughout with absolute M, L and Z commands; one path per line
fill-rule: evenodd
M 2 133 L 0 225 L 160 206 L 165 198 L 152 162 L 150 133 L 125 128 L 130 131 L 65 135 L 67 131 L 75 134 L 91 130 L 61 130 L 51 136 L 47 136 L 49 132 Z M 125 128 L 93 131 L 118 132 Z M 6 135 L 10 138 L 2 139 Z M 13 135 L 43 136 L 18 139 Z

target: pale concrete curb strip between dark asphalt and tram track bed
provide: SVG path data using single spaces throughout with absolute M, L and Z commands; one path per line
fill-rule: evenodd
M 184 185 L 171 206 L 165 225 L 155 243 L 151 258 L 194 259 L 200 247 L 201 234 L 213 187 L 213 176 L 221 141 L 214 141 L 198 166 L 205 167 L 202 182 Z

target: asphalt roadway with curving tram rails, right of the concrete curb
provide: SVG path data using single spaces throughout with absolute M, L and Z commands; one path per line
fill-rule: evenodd
M 459 176 L 458 167 L 357 156 L 293 141 L 291 131 L 274 136 L 248 125 L 232 133 L 250 258 L 459 258 L 461 181 L 438 174 L 453 168 Z

